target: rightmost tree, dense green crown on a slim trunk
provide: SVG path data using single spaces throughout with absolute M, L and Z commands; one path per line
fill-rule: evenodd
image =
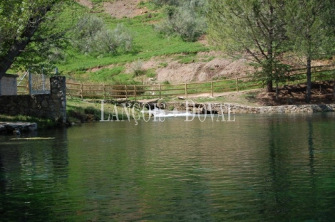
M 334 49 L 334 0 L 290 0 L 286 4 L 287 36 L 306 65 L 306 102 L 311 101 L 311 60 Z

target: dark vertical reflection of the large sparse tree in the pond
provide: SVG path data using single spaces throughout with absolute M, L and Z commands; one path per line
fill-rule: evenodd
M 261 205 L 259 213 L 266 220 L 283 220 L 287 213 L 289 204 L 289 160 L 287 158 L 287 147 L 284 147 L 283 134 L 286 134 L 285 124 L 278 119 L 269 119 L 264 126 L 267 133 L 269 149 L 269 169 L 264 179 L 263 189 L 260 191 Z M 289 141 L 289 137 L 284 137 Z

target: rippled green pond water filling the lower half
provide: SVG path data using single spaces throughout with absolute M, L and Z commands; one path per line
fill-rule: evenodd
M 2 136 L 0 221 L 334 220 L 335 113 L 215 120 Z

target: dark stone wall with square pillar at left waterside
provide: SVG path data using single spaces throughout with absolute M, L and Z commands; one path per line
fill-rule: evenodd
M 1 95 L 0 114 L 28 115 L 66 122 L 66 78 L 50 78 L 51 93 Z

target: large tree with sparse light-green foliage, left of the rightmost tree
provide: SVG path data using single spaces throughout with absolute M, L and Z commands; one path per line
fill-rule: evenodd
M 272 92 L 274 64 L 285 46 L 284 0 L 209 0 L 210 41 L 230 56 L 243 55 L 262 68 L 262 80 Z

